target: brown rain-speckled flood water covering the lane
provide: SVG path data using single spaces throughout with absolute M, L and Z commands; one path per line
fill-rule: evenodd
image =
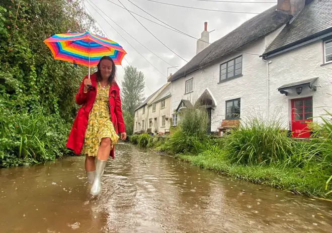
M 0 169 L 0 232 L 332 232 L 332 202 L 120 144 L 99 197 L 84 157 Z

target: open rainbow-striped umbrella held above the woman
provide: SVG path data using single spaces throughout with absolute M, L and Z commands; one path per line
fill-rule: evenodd
M 68 61 L 90 68 L 97 66 L 103 56 L 110 56 L 121 65 L 126 51 L 116 42 L 90 32 L 55 34 L 44 40 L 56 60 Z

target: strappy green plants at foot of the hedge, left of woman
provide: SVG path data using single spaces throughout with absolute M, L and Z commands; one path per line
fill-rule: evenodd
M 2 108 L 0 122 L 0 167 L 45 162 L 70 153 L 65 147 L 70 125 L 57 116 Z

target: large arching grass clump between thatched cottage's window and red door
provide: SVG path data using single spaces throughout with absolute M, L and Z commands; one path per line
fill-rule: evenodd
M 279 121 L 249 117 L 227 136 L 229 159 L 239 164 L 269 164 L 286 160 L 292 151 L 291 140 Z

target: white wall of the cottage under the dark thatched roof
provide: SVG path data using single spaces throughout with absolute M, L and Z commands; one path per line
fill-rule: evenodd
M 217 101 L 217 106 L 212 111 L 211 131 L 217 131 L 220 122 L 225 119 L 225 101 L 227 100 L 241 98 L 241 119 L 244 119 L 245 115 L 256 114 L 255 112 L 260 112 L 264 117 L 267 107 L 267 71 L 266 62 L 258 54 L 265 51 L 265 46 L 266 42 L 263 38 L 246 48 L 242 48 L 242 52 L 223 57 L 217 64 L 173 81 L 172 109 L 178 107 L 181 99 L 190 99 L 194 103 L 203 91 L 209 88 Z M 219 82 L 220 65 L 239 55 L 242 55 L 242 76 Z M 190 78 L 194 78 L 194 91 L 185 94 L 185 81 Z

